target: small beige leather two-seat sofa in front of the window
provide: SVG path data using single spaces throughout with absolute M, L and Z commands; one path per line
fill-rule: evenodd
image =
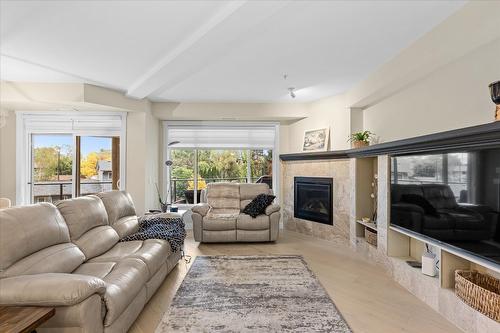
M 252 218 L 241 211 L 258 194 L 272 194 L 267 184 L 210 183 L 206 203 L 192 208 L 198 242 L 269 242 L 278 239 L 280 206 Z

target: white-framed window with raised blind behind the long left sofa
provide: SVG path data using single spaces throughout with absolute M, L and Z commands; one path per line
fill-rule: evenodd
M 126 113 L 17 112 L 17 204 L 125 186 Z

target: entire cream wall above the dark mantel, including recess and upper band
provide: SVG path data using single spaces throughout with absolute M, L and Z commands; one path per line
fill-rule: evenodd
M 317 127 L 330 126 L 335 150 L 361 129 L 387 142 L 493 121 L 499 12 L 498 1 L 470 2 L 343 95 L 312 103 L 289 126 L 289 151 L 300 151 L 304 130 Z

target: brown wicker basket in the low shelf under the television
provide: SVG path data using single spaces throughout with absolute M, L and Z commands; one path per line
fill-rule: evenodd
M 485 316 L 500 322 L 500 280 L 476 271 L 455 271 L 455 294 Z

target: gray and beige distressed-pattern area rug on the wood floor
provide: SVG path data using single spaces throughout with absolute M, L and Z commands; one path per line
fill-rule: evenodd
M 300 256 L 199 256 L 156 332 L 351 332 Z

